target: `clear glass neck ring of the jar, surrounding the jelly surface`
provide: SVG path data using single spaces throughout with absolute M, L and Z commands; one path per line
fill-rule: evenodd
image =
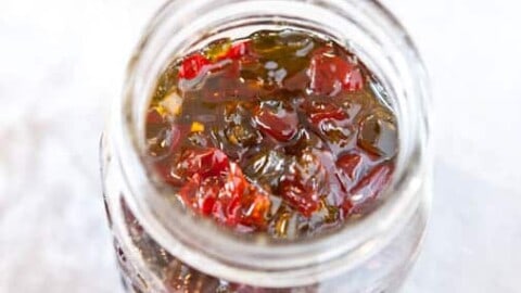
M 155 80 L 176 55 L 223 35 L 297 28 L 348 47 L 382 80 L 398 118 L 401 150 L 385 201 L 334 233 L 291 242 L 240 238 L 207 219 L 165 203 L 147 169 L 144 113 Z M 427 148 L 428 91 L 418 52 L 404 28 L 377 1 L 174 0 L 150 23 L 130 61 L 124 99 L 114 117 L 125 200 L 150 234 L 173 255 L 218 278 L 259 286 L 308 285 L 355 267 L 389 243 L 419 199 Z M 173 215 L 175 217 L 173 217 Z M 193 229 L 198 227 L 198 229 Z M 247 273 L 244 273 L 244 270 Z

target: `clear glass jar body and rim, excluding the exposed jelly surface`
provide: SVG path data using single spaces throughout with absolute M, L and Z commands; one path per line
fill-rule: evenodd
M 275 242 L 239 238 L 165 201 L 144 160 L 144 113 L 176 56 L 221 37 L 296 28 L 344 44 L 382 81 L 398 119 L 389 196 L 340 231 Z M 128 292 L 392 292 L 416 259 L 430 203 L 428 91 L 418 52 L 377 1 L 174 0 L 130 61 L 101 143 L 104 200 Z

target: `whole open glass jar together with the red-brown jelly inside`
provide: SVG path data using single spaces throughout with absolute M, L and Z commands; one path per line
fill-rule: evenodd
M 399 286 L 427 218 L 427 93 L 399 25 L 354 2 L 156 15 L 102 141 L 128 292 Z

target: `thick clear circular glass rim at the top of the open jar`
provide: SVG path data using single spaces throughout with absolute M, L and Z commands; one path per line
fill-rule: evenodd
M 414 207 L 418 204 L 418 199 L 415 199 L 414 194 L 420 188 L 420 182 L 411 175 L 425 171 L 422 166 L 427 160 L 429 127 L 424 113 L 429 99 L 427 78 L 419 53 L 398 21 L 376 0 L 363 3 L 353 0 L 194 0 L 190 1 L 189 5 L 198 11 L 220 2 L 221 5 L 233 5 L 239 2 L 256 5 L 284 2 L 293 9 L 298 9 L 300 5 L 316 5 L 316 8 L 329 10 L 350 4 L 359 13 L 369 15 L 370 21 L 374 23 L 378 21 L 376 26 L 383 29 L 384 34 L 399 37 L 396 44 L 402 47 L 401 55 L 406 61 L 402 65 L 410 71 L 411 77 L 417 78 L 410 80 L 417 94 L 412 98 L 419 103 L 419 113 L 416 113 L 419 117 L 415 123 L 419 124 L 420 130 L 417 131 L 424 131 L 424 136 L 415 137 L 410 157 L 403 158 L 402 162 L 398 160 L 398 165 L 402 164 L 403 167 L 398 167 L 393 176 L 393 183 L 387 189 L 392 190 L 393 194 L 385 196 L 385 201 L 377 211 L 358 221 L 346 222 L 335 233 L 289 243 L 255 243 L 259 239 L 230 237 L 232 233 L 227 233 L 225 229 L 216 229 L 213 222 L 190 217 L 187 213 L 176 215 L 176 225 L 165 225 L 161 214 L 166 213 L 166 206 L 157 199 L 150 198 L 152 193 L 161 193 L 161 191 L 152 182 L 144 158 L 140 155 L 142 148 L 139 138 L 143 131 L 139 125 L 136 125 L 140 119 L 136 116 L 135 103 L 139 91 L 137 88 L 145 84 L 140 79 L 139 74 L 142 72 L 148 74 L 148 67 L 143 64 L 143 54 L 149 50 L 154 37 L 157 37 L 157 31 L 162 29 L 164 22 L 171 21 L 170 14 L 179 13 L 188 5 L 182 0 L 171 0 L 160 9 L 145 30 L 128 67 L 124 98 L 116 105 L 117 111 L 113 119 L 117 130 L 116 160 L 129 191 L 124 194 L 125 200 L 141 225 L 162 246 L 182 262 L 208 275 L 219 271 L 217 276 L 219 278 L 262 286 L 307 285 L 317 282 L 317 279 L 331 278 L 338 273 L 332 272 L 331 268 L 341 266 L 346 259 L 350 259 L 350 265 L 354 267 L 385 245 L 385 242 L 393 238 L 393 232 L 397 231 L 393 226 L 405 225 L 403 218 L 407 217 L 407 213 L 412 214 Z M 276 18 L 277 22 L 281 21 L 280 16 Z M 198 229 L 193 229 L 195 225 Z M 339 243 L 342 245 L 338 245 Z M 247 269 L 249 273 L 244 273 L 244 269 Z

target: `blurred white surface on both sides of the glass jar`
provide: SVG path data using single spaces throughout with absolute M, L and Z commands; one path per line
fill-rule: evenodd
M 120 292 L 98 139 L 160 0 L 0 1 L 0 292 Z M 435 199 L 404 291 L 519 292 L 521 4 L 387 0 L 432 76 Z

